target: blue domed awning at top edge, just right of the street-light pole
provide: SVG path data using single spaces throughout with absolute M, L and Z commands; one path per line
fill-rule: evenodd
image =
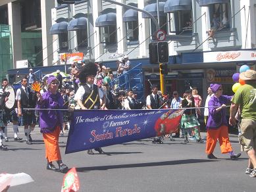
M 165 3 L 165 13 L 183 10 L 192 10 L 192 0 L 168 0 Z

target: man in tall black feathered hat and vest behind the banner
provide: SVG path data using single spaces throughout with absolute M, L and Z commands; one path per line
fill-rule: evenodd
M 93 84 L 96 74 L 97 66 L 93 62 L 88 62 L 78 75 L 81 86 L 78 88 L 74 100 L 81 109 L 90 110 L 105 108 L 105 104 L 103 103 L 105 95 L 97 85 Z M 95 151 L 104 153 L 101 147 L 95 148 Z M 94 154 L 92 149 L 88 150 L 88 154 Z

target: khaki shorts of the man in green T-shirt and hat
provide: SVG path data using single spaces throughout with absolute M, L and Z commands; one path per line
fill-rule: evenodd
M 256 150 L 256 120 L 243 118 L 241 120 L 239 141 L 242 151 Z

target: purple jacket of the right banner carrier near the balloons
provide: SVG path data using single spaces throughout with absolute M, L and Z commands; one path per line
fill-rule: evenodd
M 219 112 L 216 111 L 217 108 L 211 107 L 221 107 L 222 104 L 227 104 L 228 101 L 232 99 L 233 96 L 222 95 L 219 98 L 213 96 L 209 100 L 209 118 L 207 121 L 207 129 L 217 130 L 222 125 L 228 125 L 226 120 L 226 108 L 222 108 Z

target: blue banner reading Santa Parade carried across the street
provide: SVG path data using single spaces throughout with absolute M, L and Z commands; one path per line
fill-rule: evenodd
M 176 132 L 184 109 L 74 110 L 66 154 Z

